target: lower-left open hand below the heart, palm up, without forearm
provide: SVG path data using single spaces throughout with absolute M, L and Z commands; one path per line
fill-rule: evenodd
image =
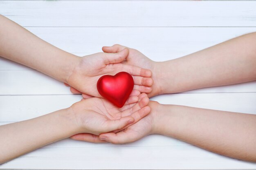
M 71 106 L 77 124 L 81 127 L 79 132 L 81 134 L 71 138 L 81 140 L 82 136 L 83 139 L 87 139 L 86 141 L 106 142 L 101 141 L 97 135 L 113 130 L 123 130 L 136 123 L 150 112 L 148 102 L 149 99 L 145 93 L 139 95 L 139 98 L 131 96 L 122 108 L 102 98 L 83 99 Z

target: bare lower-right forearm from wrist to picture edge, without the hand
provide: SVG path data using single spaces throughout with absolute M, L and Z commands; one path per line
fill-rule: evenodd
M 161 105 L 156 132 L 212 152 L 256 161 L 256 115 Z

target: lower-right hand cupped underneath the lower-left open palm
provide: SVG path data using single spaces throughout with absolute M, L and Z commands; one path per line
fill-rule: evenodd
M 141 97 L 145 97 L 146 94 L 141 95 Z M 150 101 L 149 106 L 151 108 L 150 113 L 139 120 L 137 123 L 129 126 L 125 130 L 121 132 L 108 132 L 103 133 L 99 136 L 94 135 L 90 137 L 88 135 L 79 134 L 74 135 L 72 139 L 82 140 L 82 141 L 90 141 L 90 142 L 111 142 L 113 144 L 124 144 L 133 141 L 137 141 L 147 135 L 158 132 L 157 130 L 157 122 L 158 121 L 158 113 L 159 113 L 159 103 Z M 92 140 L 94 139 L 94 140 Z

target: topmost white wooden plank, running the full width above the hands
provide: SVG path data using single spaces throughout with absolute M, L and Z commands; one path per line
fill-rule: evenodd
M 255 1 L 2 0 L 0 9 L 22 26 L 256 26 Z

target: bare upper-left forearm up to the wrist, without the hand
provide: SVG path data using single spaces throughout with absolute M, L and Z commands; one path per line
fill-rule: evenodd
M 0 22 L 0 56 L 66 82 L 78 57 L 41 40 L 2 15 Z

